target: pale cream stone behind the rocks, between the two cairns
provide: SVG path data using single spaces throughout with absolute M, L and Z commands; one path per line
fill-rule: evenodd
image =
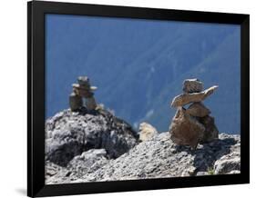
M 138 130 L 140 141 L 147 141 L 155 135 L 159 134 L 157 129 L 148 123 L 139 124 Z

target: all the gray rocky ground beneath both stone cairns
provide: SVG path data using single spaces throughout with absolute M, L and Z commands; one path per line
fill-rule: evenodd
M 46 183 L 240 173 L 240 135 L 196 150 L 174 144 L 169 132 L 138 141 L 126 122 L 106 110 L 65 110 L 46 121 Z

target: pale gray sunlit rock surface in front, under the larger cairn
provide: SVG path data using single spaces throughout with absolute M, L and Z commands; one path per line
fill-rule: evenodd
M 93 167 L 91 171 L 88 166 Z M 240 135 L 220 134 L 218 140 L 200 144 L 197 150 L 192 151 L 188 146 L 174 144 L 167 132 L 139 143 L 117 159 L 107 159 L 104 150 L 93 150 L 75 157 L 67 168 L 57 168 L 62 170 L 54 172 L 49 168 L 52 176 L 46 174 L 46 183 L 240 173 Z

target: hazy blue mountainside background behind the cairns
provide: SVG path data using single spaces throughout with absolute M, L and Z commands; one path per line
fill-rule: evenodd
M 68 108 L 87 75 L 97 103 L 168 131 L 185 78 L 220 87 L 205 104 L 220 132 L 240 134 L 240 26 L 46 15 L 46 117 Z

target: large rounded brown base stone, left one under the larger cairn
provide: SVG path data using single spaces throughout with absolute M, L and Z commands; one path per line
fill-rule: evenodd
M 186 114 L 184 108 L 179 108 L 172 123 L 170 124 L 170 138 L 179 145 L 189 145 L 192 148 L 196 148 L 200 143 L 200 139 L 203 137 L 205 127 L 203 124 Z

